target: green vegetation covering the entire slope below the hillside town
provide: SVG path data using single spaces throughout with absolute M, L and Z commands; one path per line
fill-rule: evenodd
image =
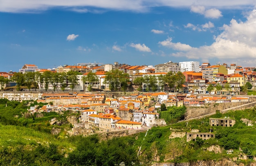
M 15 102 L 0 99 L 0 165 L 148 165 L 154 162 L 196 162 L 198 160 L 221 160 L 242 154 L 256 156 L 256 128 L 247 126 L 240 119 L 251 120 L 255 125 L 256 108 L 217 112 L 212 118 L 230 117 L 236 119 L 233 127 L 209 126 L 209 118 L 183 121 L 164 127 L 153 127 L 136 135 L 108 139 L 92 135 L 89 137 L 68 136 L 68 123 L 61 126 L 49 125 L 56 117 L 66 121 L 71 112 L 57 114 L 43 113 L 44 117 L 27 114 L 27 106 L 34 102 Z M 39 104 L 39 103 L 36 103 Z M 42 104 L 42 103 L 41 103 Z M 168 108 L 161 116 L 171 117 L 174 122 L 184 115 L 186 108 Z M 166 113 L 165 113 L 166 112 Z M 182 112 L 182 113 L 180 113 Z M 175 120 L 174 120 L 175 119 Z M 58 135 L 52 135 L 52 128 L 61 128 Z M 171 128 L 171 130 L 170 130 Z M 186 142 L 186 137 L 170 139 L 172 132 L 200 132 L 215 134 L 215 138 Z M 221 153 L 207 150 L 210 146 L 220 146 Z M 233 149 L 232 154 L 227 150 Z M 243 150 L 243 151 L 242 151 Z M 237 162 L 248 164 L 249 160 Z

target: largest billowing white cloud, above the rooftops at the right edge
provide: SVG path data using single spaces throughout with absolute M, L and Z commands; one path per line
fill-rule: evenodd
M 159 44 L 177 50 L 172 56 L 194 59 L 207 57 L 207 59 L 223 61 L 223 63 L 238 62 L 242 66 L 255 66 L 255 27 L 256 9 L 247 16 L 245 22 L 232 19 L 229 25 L 223 25 L 222 33 L 216 36 L 215 41 L 209 46 L 191 47 L 182 43 L 173 43 L 172 38 L 167 38 Z

